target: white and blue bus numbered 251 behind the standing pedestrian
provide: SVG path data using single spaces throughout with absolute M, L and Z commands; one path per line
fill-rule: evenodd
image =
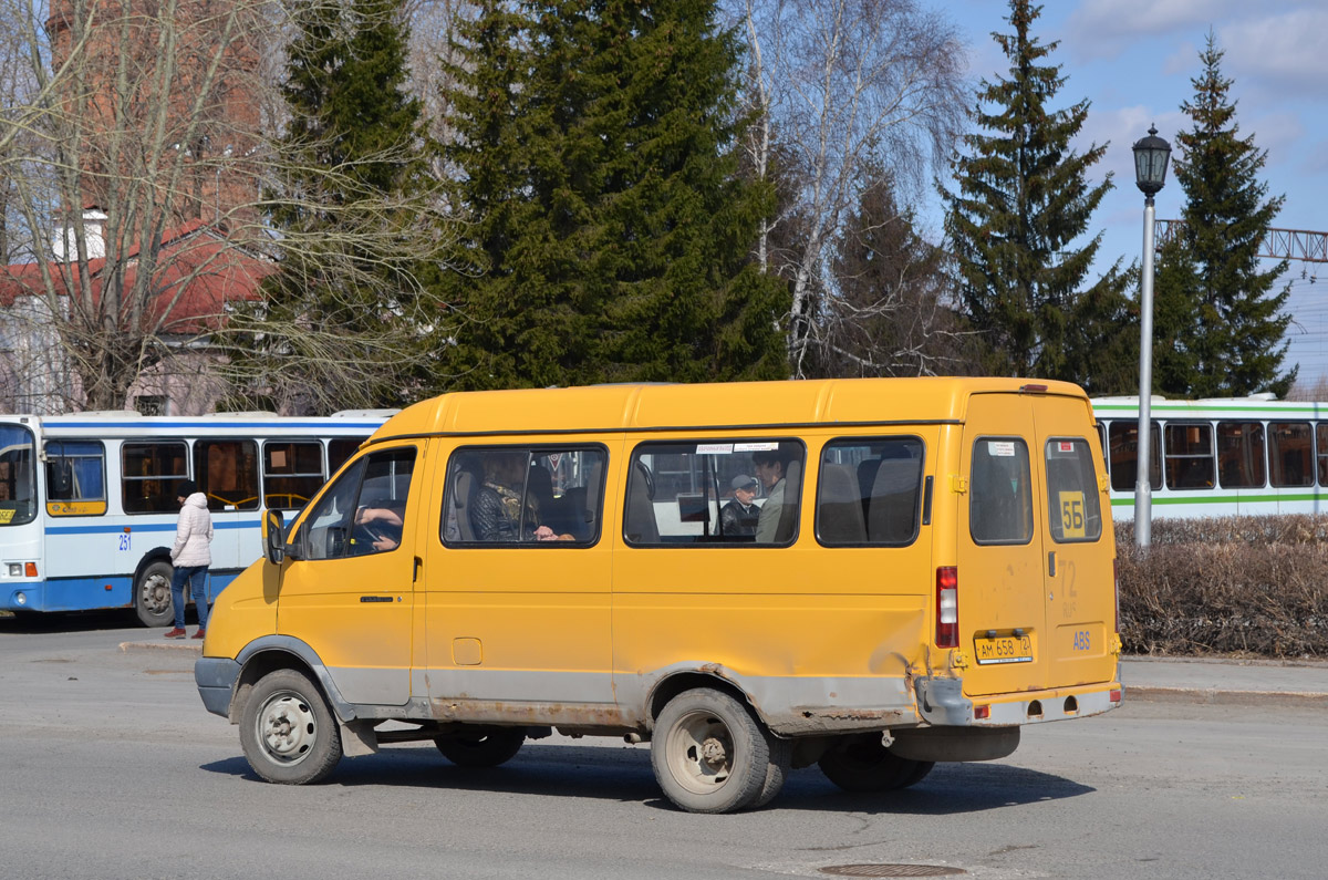
M 262 556 L 263 512 L 304 506 L 392 412 L 0 416 L 0 609 L 170 623 L 181 480 L 207 496 L 215 596 Z

